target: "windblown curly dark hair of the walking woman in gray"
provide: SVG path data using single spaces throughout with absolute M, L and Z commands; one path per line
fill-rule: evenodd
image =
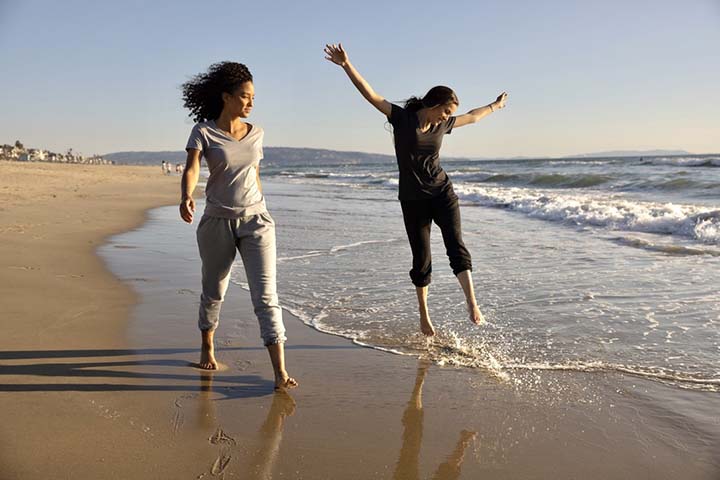
M 206 73 L 182 84 L 184 106 L 196 122 L 215 120 L 223 109 L 223 93 L 233 93 L 245 82 L 252 82 L 250 70 L 242 63 L 213 63 Z

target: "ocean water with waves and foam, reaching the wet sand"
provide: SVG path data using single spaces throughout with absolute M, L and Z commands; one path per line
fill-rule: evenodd
M 265 164 L 281 303 L 323 332 L 527 384 L 621 372 L 720 390 L 720 157 L 447 161 L 488 320 L 433 228 L 419 333 L 394 162 Z M 233 282 L 246 287 L 244 271 Z

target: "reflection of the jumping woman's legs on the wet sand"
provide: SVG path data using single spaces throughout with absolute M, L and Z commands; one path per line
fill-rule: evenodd
M 398 458 L 393 474 L 393 479 L 395 480 L 415 480 L 420 478 L 419 457 L 424 418 L 422 387 L 429 366 L 430 363 L 420 361 L 412 396 L 403 413 L 403 443 L 400 449 L 400 457 Z M 437 480 L 454 480 L 459 478 L 465 450 L 476 435 L 475 432 L 467 430 L 461 431 L 455 448 L 447 456 L 446 460 L 438 466 L 432 478 Z

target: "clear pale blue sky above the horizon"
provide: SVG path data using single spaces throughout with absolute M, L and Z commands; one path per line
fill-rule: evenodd
M 0 143 L 181 150 L 180 84 L 233 60 L 267 146 L 391 153 L 383 116 L 323 58 L 338 41 L 391 101 L 444 84 L 462 112 L 509 93 L 446 156 L 720 152 L 720 0 L 0 0 Z

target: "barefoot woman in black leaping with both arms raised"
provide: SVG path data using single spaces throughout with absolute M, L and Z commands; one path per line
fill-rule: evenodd
M 450 266 L 467 301 L 470 320 L 478 325 L 484 318 L 478 308 L 472 283 L 472 262 L 465 248 L 460 228 L 458 198 L 450 179 L 440 166 L 440 147 L 444 135 L 453 128 L 475 123 L 505 107 L 507 94 L 469 112 L 453 116 L 458 107 L 455 92 L 448 87 L 433 87 L 422 98 L 412 97 L 405 108 L 398 107 L 378 95 L 350 63 L 342 44 L 325 46 L 326 59 L 345 70 L 363 97 L 380 110 L 393 126 L 405 230 L 413 254 L 410 278 L 415 285 L 420 308 L 420 330 L 435 335 L 427 308 L 428 285 L 432 271 L 430 227 L 434 221 L 442 231 Z

